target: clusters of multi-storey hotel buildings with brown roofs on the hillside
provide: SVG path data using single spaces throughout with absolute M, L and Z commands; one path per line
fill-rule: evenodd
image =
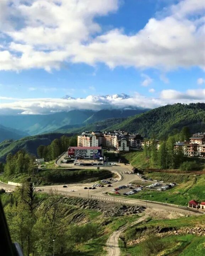
M 142 150 L 145 145 L 151 146 L 155 143 L 157 150 L 160 148 L 160 140 L 145 140 L 140 134 L 114 130 L 110 132 L 85 131 L 77 136 L 78 147 L 102 147 L 114 149 L 118 152 Z M 180 150 L 184 156 L 205 157 L 205 133 L 194 133 L 188 141 L 176 142 L 175 150 Z

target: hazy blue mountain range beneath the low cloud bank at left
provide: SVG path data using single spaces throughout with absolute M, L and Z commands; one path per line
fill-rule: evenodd
M 63 126 L 80 127 L 85 124 L 101 121 L 107 118 L 119 118 L 133 116 L 147 111 L 146 109 L 131 110 L 71 110 L 69 112 L 58 112 L 53 114 L 34 114 L 34 115 L 16 115 L 0 116 L 0 124 L 12 129 L 21 130 L 26 135 L 36 135 L 53 132 Z M 15 137 L 3 137 L 2 139 L 12 139 Z M 17 139 L 22 138 L 18 137 Z

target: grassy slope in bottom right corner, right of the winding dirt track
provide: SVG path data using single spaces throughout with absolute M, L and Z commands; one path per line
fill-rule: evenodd
M 126 241 L 136 239 L 140 237 L 140 233 L 137 230 L 146 230 L 147 234 L 151 234 L 153 230 L 159 228 L 174 228 L 179 229 L 183 227 L 195 227 L 205 226 L 205 217 L 201 215 L 199 217 L 189 217 L 189 218 L 178 218 L 178 219 L 165 219 L 165 220 L 150 220 L 147 223 L 140 224 L 126 230 L 123 234 Z M 130 236 L 130 234 L 132 234 Z M 192 255 L 204 255 L 204 243 L 205 237 L 196 235 L 179 235 L 179 236 L 166 236 L 162 238 L 162 242 L 166 243 L 167 247 L 159 255 L 169 255 L 169 256 L 192 256 Z M 122 245 L 122 255 L 130 254 L 130 256 L 144 255 L 142 244 L 127 246 L 126 249 Z

